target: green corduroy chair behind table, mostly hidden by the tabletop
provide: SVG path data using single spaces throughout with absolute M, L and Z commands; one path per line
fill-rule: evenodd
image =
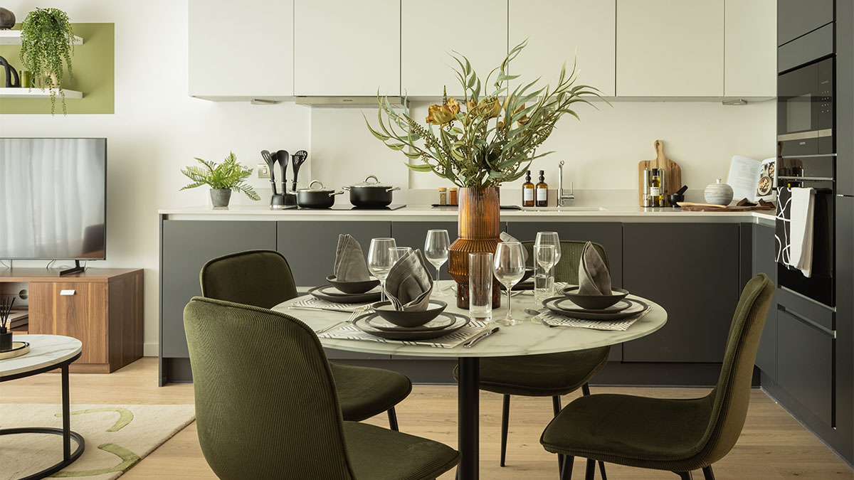
M 578 264 L 587 242 L 569 240 L 560 242 L 560 262 L 554 267 L 556 282 L 578 283 Z M 533 265 L 534 242 L 523 242 L 528 250 L 529 264 Z M 594 248 L 608 266 L 605 247 L 594 243 Z M 524 355 L 516 357 L 489 357 L 480 361 L 480 389 L 504 395 L 501 409 L 501 460 L 504 466 L 507 451 L 507 424 L 510 417 L 510 395 L 551 396 L 554 414 L 560 412 L 560 395 L 582 389 L 590 395 L 588 380 L 608 362 L 611 347 L 589 348 L 559 354 Z M 453 371 L 457 378 L 457 369 Z M 605 465 L 600 464 L 605 478 Z

